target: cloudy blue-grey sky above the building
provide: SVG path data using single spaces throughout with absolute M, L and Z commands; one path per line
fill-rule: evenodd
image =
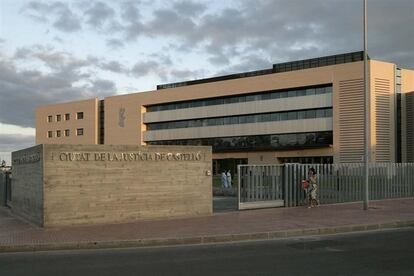
M 39 105 L 360 51 L 362 0 L 0 0 L 0 159 Z M 414 68 L 414 1 L 368 0 L 371 58 Z

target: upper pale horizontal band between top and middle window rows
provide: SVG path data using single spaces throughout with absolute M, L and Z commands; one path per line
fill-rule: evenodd
M 148 112 L 144 123 L 332 107 L 332 94 Z

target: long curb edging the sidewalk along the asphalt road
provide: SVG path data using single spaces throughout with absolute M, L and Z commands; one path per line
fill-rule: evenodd
M 317 236 L 329 234 L 341 234 L 351 232 L 364 232 L 374 230 L 385 230 L 393 228 L 414 227 L 414 220 L 396 221 L 377 224 L 345 225 L 325 228 L 309 228 L 281 230 L 259 233 L 245 234 L 224 234 L 215 236 L 184 237 L 184 238 L 157 238 L 157 239 L 138 239 L 120 241 L 87 241 L 87 242 L 68 242 L 68 243 L 39 243 L 24 245 L 0 245 L 0 253 L 7 252 L 32 252 L 32 251 L 51 251 L 51 250 L 77 250 L 77 249 L 110 249 L 110 248 L 129 248 L 129 247 L 156 247 L 173 245 L 202 245 L 237 241 L 254 240 L 275 240 L 303 236 Z

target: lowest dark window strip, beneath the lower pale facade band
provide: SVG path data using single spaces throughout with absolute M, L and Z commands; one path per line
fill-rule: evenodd
M 212 146 L 213 152 L 288 150 L 332 145 L 332 131 L 150 141 L 149 145 Z

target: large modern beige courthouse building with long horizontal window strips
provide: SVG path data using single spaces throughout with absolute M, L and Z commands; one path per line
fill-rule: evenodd
M 369 60 L 371 160 L 414 161 L 414 71 Z M 363 52 L 39 107 L 36 143 L 211 145 L 240 163 L 349 163 L 364 154 Z

